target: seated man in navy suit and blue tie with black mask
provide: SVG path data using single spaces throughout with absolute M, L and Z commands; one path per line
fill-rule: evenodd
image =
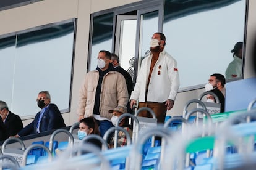
M 39 92 L 36 102 L 41 111 L 36 114 L 32 123 L 25 126 L 15 137 L 66 127 L 59 108 L 51 103 L 51 96 L 48 91 Z

